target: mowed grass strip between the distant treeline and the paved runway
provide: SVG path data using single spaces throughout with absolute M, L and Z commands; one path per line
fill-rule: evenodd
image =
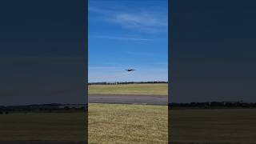
M 160 94 L 167 95 L 168 84 L 90 85 L 89 94 Z

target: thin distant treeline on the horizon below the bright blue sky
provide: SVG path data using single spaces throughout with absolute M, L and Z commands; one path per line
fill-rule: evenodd
M 89 82 L 89 85 L 119 85 L 119 84 L 145 84 L 145 83 L 168 83 L 165 81 L 155 82 Z

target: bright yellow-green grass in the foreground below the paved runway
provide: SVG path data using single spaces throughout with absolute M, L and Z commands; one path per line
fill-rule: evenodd
M 168 107 L 89 104 L 89 143 L 167 143 Z

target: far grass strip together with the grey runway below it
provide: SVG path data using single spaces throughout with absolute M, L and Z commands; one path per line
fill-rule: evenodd
M 90 85 L 89 102 L 112 104 L 168 104 L 168 84 Z

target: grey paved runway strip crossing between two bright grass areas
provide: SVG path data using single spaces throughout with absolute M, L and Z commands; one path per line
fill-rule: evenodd
M 114 103 L 114 104 L 144 104 L 167 106 L 166 95 L 142 95 L 142 94 L 90 94 L 90 103 Z

